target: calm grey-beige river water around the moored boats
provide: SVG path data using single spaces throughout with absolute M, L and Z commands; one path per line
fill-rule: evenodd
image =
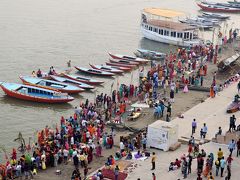
M 142 38 L 139 27 L 145 7 L 199 13 L 194 0 L 1 0 L 0 81 L 20 83 L 20 75 L 30 75 L 38 68 L 47 72 L 50 66 L 60 72 L 69 59 L 72 66 L 103 64 L 109 59 L 108 51 L 132 55 L 141 47 L 169 52 L 173 47 Z M 239 16 L 232 16 L 235 24 L 229 22 L 228 27 L 236 26 L 236 20 Z M 209 34 L 200 35 L 211 39 Z M 109 94 L 116 79 L 103 79 L 105 83 L 95 94 Z M 136 79 L 137 71 L 119 77 L 126 84 L 137 83 Z M 37 130 L 54 127 L 80 101 L 94 99 L 94 93 L 74 97 L 68 104 L 48 105 L 9 98 L 0 91 L 0 146 L 17 146 L 13 139 L 18 132 L 27 142 L 29 137 L 36 138 Z

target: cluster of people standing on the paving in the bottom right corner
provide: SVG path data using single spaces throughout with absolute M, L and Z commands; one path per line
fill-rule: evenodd
M 183 154 L 179 159 L 169 165 L 169 171 L 181 169 L 183 178 L 187 178 L 188 174 L 192 173 L 193 159 L 197 159 L 197 180 L 202 180 L 203 177 L 208 180 L 213 180 L 215 176 L 225 177 L 226 180 L 231 179 L 231 163 L 233 161 L 233 151 L 236 150 L 236 156 L 240 154 L 240 139 L 235 142 L 231 140 L 228 145 L 229 154 L 221 148 L 217 152 L 210 152 L 208 155 L 204 149 L 199 151 L 199 145 L 194 139 L 189 141 L 188 154 Z M 214 155 L 215 154 L 215 155 Z

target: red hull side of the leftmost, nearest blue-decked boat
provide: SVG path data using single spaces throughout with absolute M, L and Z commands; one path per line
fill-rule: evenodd
M 11 91 L 11 90 L 6 89 L 4 86 L 1 86 L 1 88 L 8 96 L 17 98 L 17 99 L 26 100 L 26 101 L 33 101 L 33 102 L 39 102 L 39 103 L 66 103 L 66 102 L 70 102 L 70 101 L 74 100 L 74 98 L 69 98 L 69 99 L 66 99 L 66 98 L 65 99 L 40 98 L 40 97 L 36 97 L 36 96 L 30 96 L 28 94 L 22 94 L 17 91 Z

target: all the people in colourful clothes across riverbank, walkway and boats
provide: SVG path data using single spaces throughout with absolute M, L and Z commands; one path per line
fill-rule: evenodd
M 110 133 L 105 131 L 105 123 L 119 118 L 121 123 L 126 118 L 127 104 L 131 100 L 145 102 L 154 108 L 156 118 L 163 117 L 166 114 L 166 121 L 170 121 L 172 113 L 172 103 L 174 103 L 174 94 L 178 93 L 183 87 L 183 92 L 188 92 L 188 86 L 204 86 L 204 77 L 207 75 L 207 62 L 216 63 L 218 47 L 194 46 L 189 49 L 179 48 L 176 53 L 170 52 L 166 56 L 163 64 L 152 62 L 151 69 L 147 76 L 142 75 L 140 70 L 140 84 L 121 84 L 118 90 L 113 90 L 111 95 L 99 94 L 94 103 L 87 99 L 75 108 L 73 116 L 65 119 L 61 117 L 60 126 L 55 129 L 46 126 L 38 133 L 38 141 L 32 145 L 28 152 L 17 157 L 17 152 L 13 149 L 10 158 L 7 158 L 6 165 L 0 166 L 2 179 L 9 179 L 25 176 L 32 178 L 40 170 L 48 167 L 57 167 L 59 164 L 68 164 L 69 160 L 75 167 L 72 173 L 72 179 L 79 180 L 88 175 L 89 164 L 94 158 L 102 157 L 102 150 L 112 149 L 114 146 L 114 130 Z M 70 64 L 70 62 L 69 62 Z M 68 65 L 71 67 L 71 65 Z M 53 67 L 49 74 L 55 74 Z M 34 76 L 42 77 L 43 73 L 39 69 Z M 227 87 L 232 81 L 236 81 L 239 76 L 234 76 L 227 80 L 224 85 L 217 87 L 216 72 L 213 75 L 210 96 L 215 97 L 219 88 Z M 166 98 L 166 89 L 169 87 L 169 99 Z M 163 95 L 159 91 L 163 89 Z M 238 90 L 240 89 L 240 85 Z M 166 110 L 166 113 L 165 113 Z M 234 118 L 232 118 L 234 119 Z M 196 120 L 192 122 L 192 135 L 196 132 Z M 221 127 L 219 128 L 219 132 Z M 229 130 L 234 130 L 233 120 L 230 122 Z M 222 132 L 221 132 L 222 133 Z M 201 138 L 207 134 L 207 125 L 204 124 L 200 130 Z M 113 167 L 115 161 L 120 159 L 138 159 L 149 157 L 150 152 L 146 150 L 146 133 L 140 133 L 134 138 L 121 137 L 120 150 L 110 155 L 106 159 L 105 166 Z M 237 148 L 236 148 L 237 147 Z M 195 143 L 194 136 L 191 137 L 188 147 L 188 155 L 176 159 L 170 163 L 169 171 L 181 168 L 184 178 L 191 173 L 192 159 L 197 158 L 198 179 L 201 175 L 213 179 L 212 171 L 214 164 L 216 167 L 216 176 L 223 176 L 223 170 L 227 169 L 227 177 L 231 177 L 232 152 L 237 149 L 237 155 L 240 152 L 240 140 L 234 140 L 229 143 L 230 154 L 224 158 L 223 152 L 219 149 L 217 159 L 214 154 L 207 153 Z M 137 151 L 133 154 L 133 151 Z M 95 156 L 94 156 L 95 155 Z M 155 169 L 156 155 L 152 154 L 152 169 Z M 205 162 L 205 163 L 204 163 Z M 205 164 L 205 167 L 204 167 Z M 83 175 L 79 168 L 83 169 Z M 115 179 L 118 179 L 119 167 L 114 166 Z M 155 174 L 153 173 L 153 177 Z M 94 178 L 103 179 L 101 170 L 95 173 Z

